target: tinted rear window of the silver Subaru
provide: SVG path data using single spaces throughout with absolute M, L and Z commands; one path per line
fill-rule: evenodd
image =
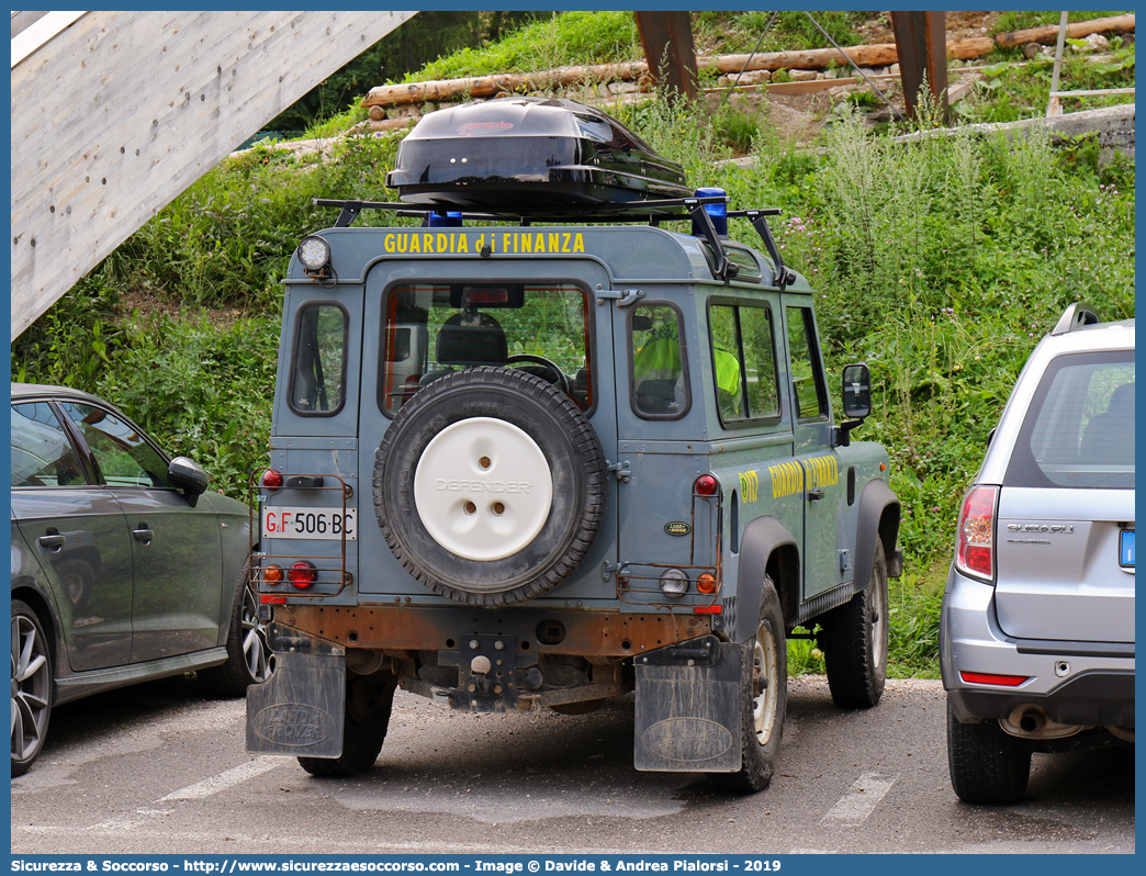
M 1019 433 L 1004 484 L 1135 487 L 1135 353 L 1051 362 Z

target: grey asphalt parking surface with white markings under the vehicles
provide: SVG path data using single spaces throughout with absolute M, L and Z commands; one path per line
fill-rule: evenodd
M 244 751 L 243 703 L 191 679 L 72 703 L 11 782 L 34 853 L 1096 853 L 1135 851 L 1133 746 L 1035 756 L 1027 800 L 960 804 L 937 681 L 841 712 L 790 681 L 779 772 L 756 796 L 633 769 L 633 702 L 589 715 L 470 715 L 399 691 L 352 780 Z

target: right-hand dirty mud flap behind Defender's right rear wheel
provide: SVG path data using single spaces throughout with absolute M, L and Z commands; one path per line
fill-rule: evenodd
M 740 768 L 744 647 L 702 636 L 637 657 L 637 769 L 735 773 Z

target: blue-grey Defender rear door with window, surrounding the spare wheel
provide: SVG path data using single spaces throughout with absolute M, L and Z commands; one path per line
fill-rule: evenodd
M 460 319 L 489 329 L 500 327 L 511 366 L 550 382 L 557 377 L 552 366 L 559 368 L 560 385 L 587 415 L 605 456 L 615 461 L 615 402 L 609 380 L 613 370 L 612 329 L 605 311 L 612 304 L 602 299 L 598 306 L 592 294 L 609 286 L 604 269 L 584 259 L 435 258 L 376 265 L 366 283 L 359 448 L 363 478 L 374 471 L 375 452 L 393 417 L 417 390 L 450 370 L 468 367 L 439 343 L 442 327 Z M 507 362 L 482 358 L 480 363 Z M 609 490 L 603 530 L 615 527 L 615 478 L 610 477 Z M 369 491 L 366 495 L 359 517 L 359 549 L 363 557 L 377 562 L 370 568 L 363 563 L 359 592 L 411 593 L 415 601 L 439 601 L 398 564 L 378 525 L 372 496 Z M 601 569 L 606 561 L 615 562 L 614 543 L 604 533 L 597 538 L 581 568 L 560 586 L 563 600 L 602 597 Z

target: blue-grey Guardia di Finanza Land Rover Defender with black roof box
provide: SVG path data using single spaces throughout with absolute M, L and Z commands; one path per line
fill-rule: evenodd
M 778 211 L 693 194 L 564 100 L 439 110 L 397 164 L 405 203 L 319 201 L 338 220 L 284 281 L 252 476 L 278 663 L 248 749 L 352 775 L 399 686 L 568 714 L 635 690 L 638 769 L 764 788 L 786 636 L 815 631 L 837 703 L 874 705 L 902 566 L 887 453 L 849 440 L 868 368 L 835 425 Z M 422 225 L 351 227 L 375 209 Z

